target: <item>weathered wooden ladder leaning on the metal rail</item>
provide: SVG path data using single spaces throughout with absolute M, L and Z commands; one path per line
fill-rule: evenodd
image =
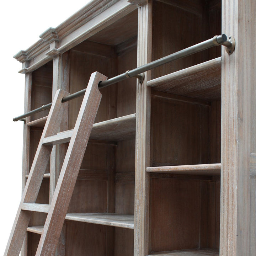
M 69 207 L 69 202 L 84 157 L 91 129 L 101 101 L 102 95 L 98 90 L 98 83 L 106 79 L 106 76 L 103 76 L 98 72 L 91 74 L 63 166 L 60 171 L 52 203 L 50 205 L 36 204 L 35 202 L 43 180 L 43 175 L 46 171 L 50 153 L 55 144 L 54 140 L 56 139 L 60 121 L 64 114 L 63 105 L 68 104 L 68 102 L 62 104 L 62 98 L 67 96 L 68 92 L 63 90 L 58 90 L 56 92 L 22 194 L 21 203 L 17 211 L 4 256 L 19 255 L 32 211 L 48 212 L 36 256 L 55 255 L 65 215 Z M 49 142 L 50 137 L 54 138 L 52 144 Z M 47 144 L 44 143 L 46 138 Z M 58 143 L 60 142 L 58 141 Z

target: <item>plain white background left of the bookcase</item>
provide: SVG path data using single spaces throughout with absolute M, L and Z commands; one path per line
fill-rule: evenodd
M 23 122 L 12 118 L 23 113 L 25 75 L 21 63 L 12 58 L 39 40 L 39 34 L 57 27 L 89 0 L 1 2 L 1 185 L 0 185 L 0 256 L 4 254 L 21 199 Z

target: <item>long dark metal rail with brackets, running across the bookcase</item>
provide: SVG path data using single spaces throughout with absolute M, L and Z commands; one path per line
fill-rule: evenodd
M 100 82 L 98 84 L 98 87 L 100 89 L 100 88 L 115 84 L 117 82 L 123 81 L 127 78 L 132 78 L 132 77 L 136 77 L 136 78 L 139 79 L 140 82 L 142 82 L 143 78 L 144 78 L 143 73 L 145 71 L 148 71 L 150 69 L 156 68 L 156 67 L 161 66 L 163 64 L 172 62 L 174 60 L 181 59 L 181 58 L 186 57 L 188 55 L 191 55 L 191 54 L 194 54 L 194 53 L 197 53 L 197 52 L 201 52 L 202 50 L 206 50 L 206 49 L 211 48 L 213 46 L 219 46 L 219 45 L 224 45 L 225 47 L 227 47 L 227 52 L 229 54 L 231 54 L 234 50 L 234 47 L 235 47 L 234 38 L 229 37 L 229 40 L 227 40 L 227 37 L 226 37 L 225 34 L 221 34 L 219 36 L 214 36 L 213 38 L 210 38 L 206 41 L 195 44 L 193 46 L 190 46 L 190 47 L 185 48 L 183 50 L 180 50 L 178 52 L 172 53 L 172 54 L 167 55 L 163 58 L 154 60 L 153 62 L 147 63 L 143 66 L 138 67 L 138 68 L 128 70 L 128 71 L 126 71 L 126 73 L 114 76 L 113 78 L 107 79 L 106 81 Z M 84 95 L 85 91 L 86 91 L 86 89 L 83 89 L 81 91 L 75 92 L 74 94 L 70 94 L 70 95 L 64 97 L 62 99 L 62 103 L 66 102 L 66 101 L 73 100 L 74 98 L 77 98 L 77 97 L 80 97 L 80 96 Z M 13 118 L 13 121 L 18 121 L 18 120 L 25 121 L 25 119 L 23 119 L 23 118 L 31 116 L 32 114 L 41 112 L 43 110 L 46 110 L 46 109 L 50 108 L 51 106 L 52 106 L 52 103 L 48 103 L 47 105 L 43 105 L 42 107 L 36 108 L 32 111 L 29 111 L 25 114 L 22 114 L 21 116 Z

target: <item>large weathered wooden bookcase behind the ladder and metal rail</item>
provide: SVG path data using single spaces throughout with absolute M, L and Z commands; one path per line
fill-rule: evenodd
M 101 89 L 58 256 L 256 255 L 256 3 L 93 0 L 15 55 L 25 112 L 215 34 L 213 47 Z M 69 101 L 60 132 L 74 128 Z M 23 188 L 48 110 L 26 118 Z M 67 144 L 56 145 L 37 203 L 50 204 Z M 47 213 L 33 212 L 22 256 Z

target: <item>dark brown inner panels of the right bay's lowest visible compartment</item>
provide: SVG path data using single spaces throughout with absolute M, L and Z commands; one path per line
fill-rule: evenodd
M 219 247 L 219 182 L 150 180 L 150 252 Z

